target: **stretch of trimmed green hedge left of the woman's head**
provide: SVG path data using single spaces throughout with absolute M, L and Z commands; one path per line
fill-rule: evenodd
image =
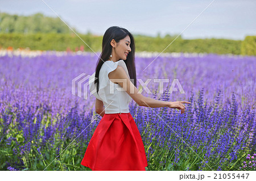
M 78 34 L 79 35 L 79 34 Z M 102 37 L 93 37 L 88 35 L 79 35 L 82 40 L 94 51 L 100 51 Z M 67 33 L 0 33 L 0 46 L 2 48 L 13 47 L 30 48 L 31 50 L 57 50 L 63 51 L 68 47 L 71 50 L 76 47 L 84 46 L 84 50 L 92 52 L 92 50 L 85 45 L 82 40 L 75 34 Z

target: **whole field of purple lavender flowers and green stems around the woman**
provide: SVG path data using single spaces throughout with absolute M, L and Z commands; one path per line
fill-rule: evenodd
M 255 170 L 256 57 L 158 54 L 135 54 L 137 79 L 152 79 L 142 94 L 191 104 L 181 115 L 131 101 L 146 170 Z M 0 170 L 90 170 L 80 163 L 101 116 L 93 95 L 72 95 L 72 79 L 93 74 L 98 56 L 0 55 Z M 154 78 L 170 79 L 163 94 Z M 168 93 L 174 79 L 184 94 Z

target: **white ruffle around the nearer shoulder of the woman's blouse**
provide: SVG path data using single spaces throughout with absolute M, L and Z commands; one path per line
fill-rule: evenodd
M 106 103 L 108 103 L 108 100 L 106 99 L 105 87 L 107 87 L 110 84 L 109 73 L 111 71 L 114 71 L 118 65 L 122 66 L 123 69 L 125 69 L 125 72 L 130 79 L 129 72 L 123 60 L 119 60 L 117 62 L 105 61 L 100 70 L 100 75 L 99 75 L 100 87 L 98 90 L 98 95 Z

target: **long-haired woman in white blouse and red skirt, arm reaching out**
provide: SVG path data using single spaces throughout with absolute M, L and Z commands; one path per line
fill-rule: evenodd
M 183 103 L 190 103 L 137 94 L 134 54 L 134 38 L 129 31 L 116 26 L 106 30 L 96 71 L 89 78 L 96 113 L 102 116 L 81 162 L 92 170 L 145 170 L 147 158 L 141 134 L 129 112 L 131 99 L 139 106 L 178 108 L 181 113 L 185 111 Z

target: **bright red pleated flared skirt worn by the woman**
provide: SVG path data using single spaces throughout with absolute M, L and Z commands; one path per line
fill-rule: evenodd
M 92 170 L 145 170 L 144 145 L 130 112 L 104 114 L 81 165 Z

